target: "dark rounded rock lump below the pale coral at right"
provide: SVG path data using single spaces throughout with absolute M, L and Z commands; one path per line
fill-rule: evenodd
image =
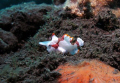
M 119 27 L 119 21 L 109 9 L 103 9 L 96 16 L 96 25 L 104 30 L 115 30 Z

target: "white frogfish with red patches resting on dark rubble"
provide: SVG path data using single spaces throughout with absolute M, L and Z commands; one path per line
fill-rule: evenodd
M 40 45 L 47 47 L 48 52 L 61 52 L 70 53 L 74 55 L 79 52 L 79 47 L 84 45 L 84 41 L 81 38 L 77 38 L 77 41 L 72 44 L 73 37 L 68 34 L 64 34 L 61 38 L 58 38 L 54 33 L 52 34 L 51 41 L 39 42 Z

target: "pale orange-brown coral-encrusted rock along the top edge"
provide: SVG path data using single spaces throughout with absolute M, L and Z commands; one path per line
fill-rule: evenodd
M 109 7 L 110 3 L 115 2 L 114 0 L 66 0 L 64 3 L 64 9 L 71 9 L 71 13 L 76 14 L 80 17 L 91 17 L 96 16 L 103 7 Z M 114 4 L 115 5 L 115 4 Z M 112 12 L 120 17 L 118 11 L 120 9 L 112 9 Z

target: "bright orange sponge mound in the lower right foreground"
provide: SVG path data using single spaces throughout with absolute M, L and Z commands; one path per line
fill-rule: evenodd
M 60 65 L 59 83 L 120 83 L 120 72 L 100 61 L 84 61 L 77 65 Z

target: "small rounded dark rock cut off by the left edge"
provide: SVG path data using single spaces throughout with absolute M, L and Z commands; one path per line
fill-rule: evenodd
M 0 29 L 0 53 L 15 50 L 18 40 L 11 32 Z

